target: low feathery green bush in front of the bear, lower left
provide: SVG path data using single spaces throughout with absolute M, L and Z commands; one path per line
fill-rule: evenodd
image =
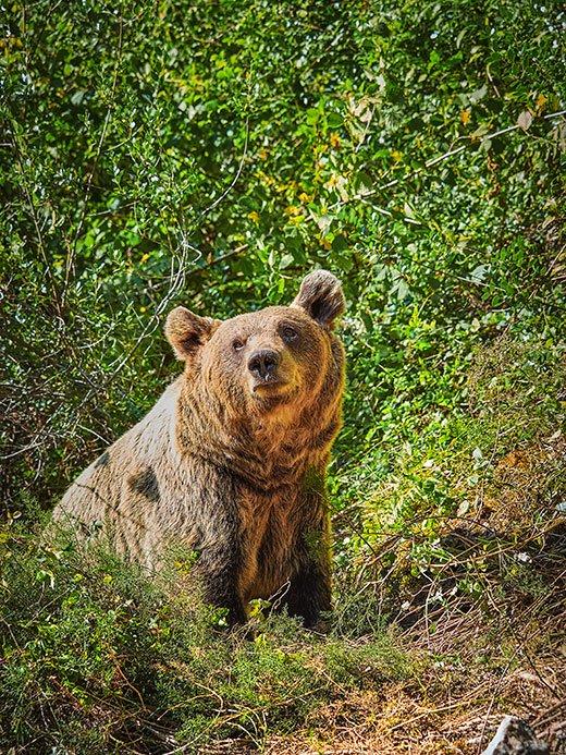
M 2 747 L 159 752 L 242 732 L 260 742 L 293 731 L 345 686 L 411 673 L 384 633 L 362 644 L 317 638 L 271 617 L 247 637 L 226 636 L 217 613 L 180 589 L 179 557 L 150 576 L 101 545 L 63 543 L 37 545 L 17 527 L 3 534 Z

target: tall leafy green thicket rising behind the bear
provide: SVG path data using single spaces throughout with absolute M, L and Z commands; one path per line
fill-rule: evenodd
M 557 337 L 556 3 L 40 0 L 5 23 L 12 511 L 49 507 L 151 405 L 180 302 L 230 316 L 339 273 L 354 474 L 442 435 L 478 344 Z

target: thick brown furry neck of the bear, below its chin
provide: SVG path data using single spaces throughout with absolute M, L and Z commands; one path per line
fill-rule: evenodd
M 175 436 L 182 456 L 229 470 L 250 487 L 269 492 L 323 474 L 341 424 L 341 393 L 324 391 L 303 407 L 266 415 L 232 415 L 198 382 L 181 388 Z

